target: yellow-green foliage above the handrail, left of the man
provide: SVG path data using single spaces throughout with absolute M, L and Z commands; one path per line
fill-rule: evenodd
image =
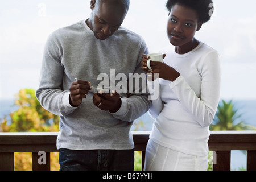
M 1 131 L 59 131 L 59 117 L 43 109 L 36 99 L 34 89 L 20 89 L 15 105 L 19 109 L 10 113 L 11 125 L 1 123 Z

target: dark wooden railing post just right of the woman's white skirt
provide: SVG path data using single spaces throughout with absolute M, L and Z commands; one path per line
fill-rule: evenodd
M 213 159 L 214 163 L 212 165 L 213 171 L 230 171 L 230 157 L 231 151 L 215 151 L 216 158 Z

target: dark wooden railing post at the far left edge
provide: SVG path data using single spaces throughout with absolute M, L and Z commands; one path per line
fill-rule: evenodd
M 14 152 L 0 152 L 0 171 L 14 171 Z

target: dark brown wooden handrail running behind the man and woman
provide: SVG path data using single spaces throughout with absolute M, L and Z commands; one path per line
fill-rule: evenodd
M 150 131 L 133 131 L 132 133 L 135 144 L 147 143 L 150 135 Z M 247 147 L 250 150 L 256 150 L 256 131 L 211 131 L 210 133 L 209 150 L 248 150 Z M 57 135 L 58 132 L 0 132 L 0 145 L 56 144 Z M 221 147 L 220 143 L 226 146 Z M 241 143 L 243 143 L 242 146 L 238 146 Z M 2 147 L 0 152 L 5 152 Z

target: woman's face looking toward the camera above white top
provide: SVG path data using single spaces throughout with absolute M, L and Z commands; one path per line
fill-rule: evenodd
M 178 4 L 172 6 L 167 24 L 170 43 L 176 47 L 189 46 L 202 24 L 195 10 Z

